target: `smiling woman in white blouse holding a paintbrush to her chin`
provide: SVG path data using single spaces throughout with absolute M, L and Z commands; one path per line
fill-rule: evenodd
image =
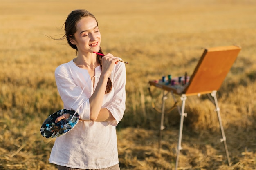
M 56 68 L 56 84 L 64 108 L 77 110 L 83 121 L 56 138 L 49 161 L 58 170 L 120 170 L 115 126 L 125 110 L 125 65 L 110 53 L 94 53 L 102 53 L 101 34 L 96 18 L 86 10 L 68 15 L 64 37 L 77 57 Z

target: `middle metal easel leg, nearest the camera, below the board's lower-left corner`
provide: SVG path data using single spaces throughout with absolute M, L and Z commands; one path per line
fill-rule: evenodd
M 180 130 L 179 130 L 179 140 L 178 140 L 178 146 L 177 146 L 177 157 L 176 157 L 175 170 L 177 170 L 177 167 L 178 167 L 178 164 L 179 164 L 180 150 L 182 150 L 181 139 L 182 139 L 184 116 L 185 117 L 187 116 L 187 114 L 185 113 L 186 95 L 182 94 L 180 99 L 182 100 L 182 110 L 180 110 L 180 108 L 178 107 L 178 110 L 179 110 L 179 113 L 180 113 Z

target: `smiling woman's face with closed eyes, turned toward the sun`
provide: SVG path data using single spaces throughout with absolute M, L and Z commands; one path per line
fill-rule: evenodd
M 99 51 L 101 33 L 94 18 L 88 16 L 76 23 L 76 33 L 70 42 L 75 44 L 79 53 L 92 53 Z

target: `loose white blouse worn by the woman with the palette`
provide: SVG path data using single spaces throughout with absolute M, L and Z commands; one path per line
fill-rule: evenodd
M 77 110 L 81 119 L 89 120 L 89 97 L 94 92 L 100 75 L 101 68 L 98 66 L 95 68 L 93 87 L 88 71 L 76 66 L 73 60 L 58 66 L 55 79 L 64 108 Z M 50 163 L 80 169 L 107 168 L 119 163 L 115 126 L 123 118 L 125 110 L 124 63 L 118 62 L 115 65 L 110 79 L 113 87 L 110 93 L 104 96 L 102 108 L 107 108 L 115 121 L 80 121 L 70 132 L 56 138 L 49 158 Z

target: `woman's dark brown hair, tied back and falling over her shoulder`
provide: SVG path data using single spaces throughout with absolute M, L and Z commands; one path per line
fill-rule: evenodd
M 73 49 L 76 49 L 76 51 L 77 51 L 77 47 L 76 47 L 76 45 L 74 45 L 70 42 L 70 38 L 74 38 L 74 33 L 76 33 L 77 22 L 79 22 L 79 20 L 81 20 L 81 18 L 88 17 L 88 16 L 92 17 L 96 20 L 94 15 L 92 13 L 90 13 L 89 11 L 87 11 L 85 9 L 76 9 L 74 11 L 71 11 L 71 13 L 67 16 L 67 19 L 65 21 L 65 35 L 61 39 L 62 40 L 67 39 L 68 44 Z M 96 20 L 96 22 L 98 25 L 97 20 Z M 103 54 L 101 47 L 98 52 Z M 101 55 L 97 54 L 97 61 L 99 62 L 100 65 L 101 65 L 101 57 L 102 57 Z M 112 89 L 112 82 L 111 82 L 110 78 L 108 78 L 105 94 L 109 93 L 111 91 L 111 89 Z

